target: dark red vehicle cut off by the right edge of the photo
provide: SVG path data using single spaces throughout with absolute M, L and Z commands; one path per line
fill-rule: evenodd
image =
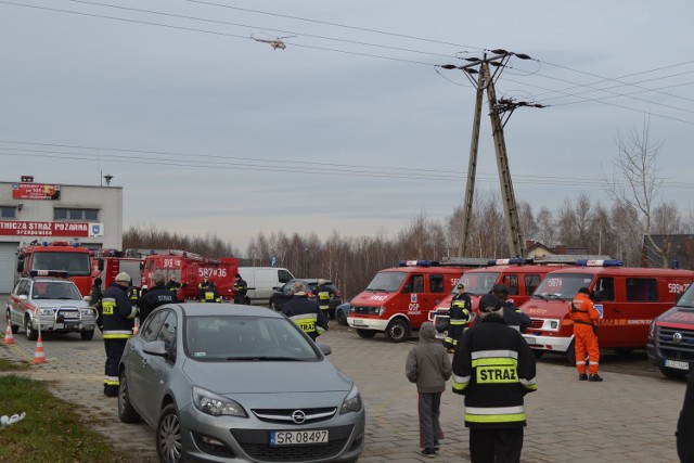
M 657 317 L 648 330 L 648 361 L 667 377 L 684 377 L 694 361 L 694 285 L 677 305 Z

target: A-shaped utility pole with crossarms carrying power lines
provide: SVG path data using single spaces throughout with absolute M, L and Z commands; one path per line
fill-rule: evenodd
M 505 123 L 513 111 L 518 106 L 543 107 L 540 104 L 531 104 L 527 102 L 513 102 L 512 100 L 497 101 L 494 90 L 494 77 L 498 77 L 500 69 L 503 69 L 505 63 L 511 56 L 522 60 L 530 60 L 530 56 L 520 53 L 511 53 L 505 50 L 492 50 L 493 56 L 484 59 L 471 57 L 466 59 L 470 64 L 463 66 L 444 65 L 445 69 L 462 69 L 470 78 L 472 74 L 478 74 L 475 100 L 475 117 L 473 119 L 473 133 L 470 146 L 470 163 L 467 167 L 467 183 L 465 185 L 465 203 L 463 206 L 463 224 L 461 227 L 461 239 L 459 243 L 460 256 L 467 254 L 467 236 L 470 234 L 470 221 L 472 218 L 473 200 L 475 193 L 475 176 L 477 170 L 477 152 L 479 146 L 479 125 L 481 118 L 481 98 L 485 89 L 487 90 L 487 99 L 489 105 L 489 118 L 491 123 L 492 137 L 494 140 L 494 153 L 497 157 L 497 169 L 499 171 L 499 183 L 501 185 L 504 219 L 506 226 L 506 245 L 511 256 L 522 257 L 524 253 L 523 235 L 520 232 L 520 221 L 518 218 L 518 209 L 515 195 L 513 192 L 513 182 L 511 180 L 511 170 L 509 167 L 509 156 L 506 152 L 506 142 L 503 134 Z M 497 67 L 493 75 L 490 73 L 489 65 Z M 478 67 L 478 69 L 476 69 Z M 472 78 L 471 78 L 472 80 Z M 503 121 L 501 115 L 509 112 L 506 120 Z

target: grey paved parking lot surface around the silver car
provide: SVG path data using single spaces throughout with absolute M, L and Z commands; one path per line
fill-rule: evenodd
M 4 308 L 4 298 L 0 297 Z M 5 331 L 4 320 L 1 323 Z M 0 357 L 31 361 L 36 342 L 22 331 L 14 345 L 0 345 Z M 416 389 L 404 377 L 404 361 L 415 340 L 391 344 L 381 335 L 362 339 L 346 326 L 331 323 L 320 338 L 332 347 L 331 361 L 358 384 L 367 406 L 367 441 L 360 462 L 465 462 L 467 430 L 461 396 L 447 390 L 441 424 L 446 439 L 435 459 L 419 455 Z M 29 375 L 50 381 L 61 398 L 82 406 L 94 429 L 128 450 L 133 462 L 156 460 L 154 433 L 145 425 L 123 424 L 116 399 L 102 395 L 103 343 L 99 334 L 85 342 L 78 335 L 46 336 L 47 363 Z M 528 427 L 523 462 L 677 462 L 674 426 L 685 383 L 653 375 L 601 372 L 604 383 L 578 382 L 563 362 L 538 361 L 537 393 L 526 396 Z M 1 410 L 0 414 L 8 412 Z M 30 413 L 30 411 L 27 411 Z

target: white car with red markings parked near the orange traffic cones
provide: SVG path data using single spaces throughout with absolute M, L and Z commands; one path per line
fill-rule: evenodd
M 54 276 L 22 278 L 8 298 L 8 319 L 12 333 L 20 327 L 29 340 L 42 333 L 79 333 L 94 337 L 97 309 L 82 298 L 75 283 Z M 40 327 L 39 327 L 40 320 Z

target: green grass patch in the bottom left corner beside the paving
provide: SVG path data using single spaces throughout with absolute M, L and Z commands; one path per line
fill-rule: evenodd
M 80 423 L 74 408 L 41 382 L 0 376 L 0 414 L 26 412 L 21 422 L 0 426 L 0 461 L 123 462 L 101 434 Z

